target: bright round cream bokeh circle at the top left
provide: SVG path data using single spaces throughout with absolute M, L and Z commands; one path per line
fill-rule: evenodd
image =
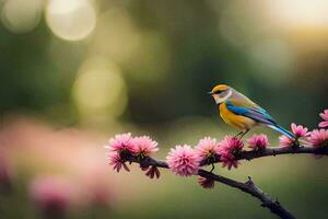
M 87 0 L 49 0 L 46 20 L 56 36 L 66 41 L 81 41 L 93 32 L 96 12 Z

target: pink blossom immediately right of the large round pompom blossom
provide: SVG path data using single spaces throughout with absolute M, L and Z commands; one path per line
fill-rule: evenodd
M 195 153 L 199 157 L 200 160 L 214 160 L 220 154 L 216 139 L 212 139 L 210 137 L 200 139 L 195 148 Z

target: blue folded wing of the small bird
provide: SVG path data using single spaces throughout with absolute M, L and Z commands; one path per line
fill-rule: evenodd
M 236 106 L 232 102 L 226 102 L 226 107 L 229 111 L 233 112 L 234 114 L 242 115 L 248 118 L 251 118 L 256 122 L 268 124 L 268 125 L 276 125 L 276 120 L 270 116 L 270 114 L 257 106 L 257 107 L 247 107 L 247 106 Z

